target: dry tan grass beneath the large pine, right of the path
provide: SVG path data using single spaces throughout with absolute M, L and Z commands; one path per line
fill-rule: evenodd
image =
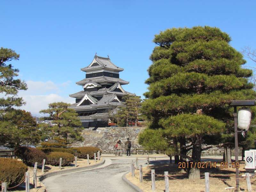
M 131 173 L 126 175 L 126 178 L 130 180 L 133 184 L 137 185 L 140 189 L 145 192 L 151 192 L 151 169 L 155 169 L 156 174 L 164 176 L 164 171 L 168 171 L 169 175 L 174 178 L 181 180 L 174 180 L 169 178 L 169 189 L 172 192 L 204 192 L 205 185 L 204 179 L 200 180 L 189 180 L 188 173 L 178 169 L 177 164 L 154 164 L 143 168 L 143 183 L 139 181 L 139 171 L 135 170 L 135 177 L 132 177 Z M 244 162 L 240 163 L 240 176 L 245 173 Z M 235 179 L 236 171 L 235 169 L 221 169 L 220 163 L 217 163 L 216 168 L 205 168 L 201 169 L 201 177 L 204 176 L 204 172 L 209 172 L 210 177 L 220 178 L 220 179 Z M 240 190 L 247 191 L 246 180 L 240 179 Z M 256 191 L 256 177 L 251 178 L 252 191 Z M 233 189 L 227 189 L 227 187 L 235 187 L 236 180 L 218 180 L 210 178 L 210 191 L 214 192 L 231 192 Z M 164 177 L 156 176 L 156 192 L 164 191 Z

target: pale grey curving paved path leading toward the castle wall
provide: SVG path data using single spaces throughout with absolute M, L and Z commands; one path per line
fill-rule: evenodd
M 121 179 L 124 172 L 130 170 L 131 160 L 135 160 L 135 157 L 131 157 L 104 157 L 105 164 L 98 168 L 52 176 L 43 180 L 43 183 L 48 192 L 134 192 Z

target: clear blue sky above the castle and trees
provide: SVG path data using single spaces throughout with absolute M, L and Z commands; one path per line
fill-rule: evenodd
M 0 2 L 0 46 L 20 54 L 12 64 L 28 91 L 24 109 L 36 114 L 48 102 L 72 102 L 82 90 L 80 68 L 95 52 L 124 68 L 123 88 L 142 96 L 155 46 L 167 28 L 212 26 L 232 37 L 238 51 L 256 49 L 256 2 L 247 1 L 8 1 Z M 248 60 L 247 66 L 255 66 Z

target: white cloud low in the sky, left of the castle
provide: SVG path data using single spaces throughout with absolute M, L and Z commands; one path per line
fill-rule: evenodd
M 26 105 L 21 106 L 20 109 L 30 111 L 32 115 L 40 115 L 39 111 L 48 108 L 48 104 L 52 102 L 74 103 L 74 98 L 61 96 L 59 86 L 52 81 L 27 81 L 26 83 L 28 90 L 18 93 L 18 96 L 26 102 Z M 60 85 L 67 86 L 69 83 L 64 82 Z

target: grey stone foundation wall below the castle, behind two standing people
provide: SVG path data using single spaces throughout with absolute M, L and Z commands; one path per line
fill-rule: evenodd
M 100 148 L 103 152 L 113 152 L 116 151 L 114 148 L 116 142 L 121 140 L 123 151 L 125 151 L 124 142 L 129 138 L 132 141 L 131 149 L 142 148 L 138 144 L 134 145 L 134 140 L 140 132 L 140 129 L 141 127 L 105 127 L 96 130 L 92 130 L 91 128 L 84 129 L 84 141 L 73 144 L 73 146 L 93 146 Z

